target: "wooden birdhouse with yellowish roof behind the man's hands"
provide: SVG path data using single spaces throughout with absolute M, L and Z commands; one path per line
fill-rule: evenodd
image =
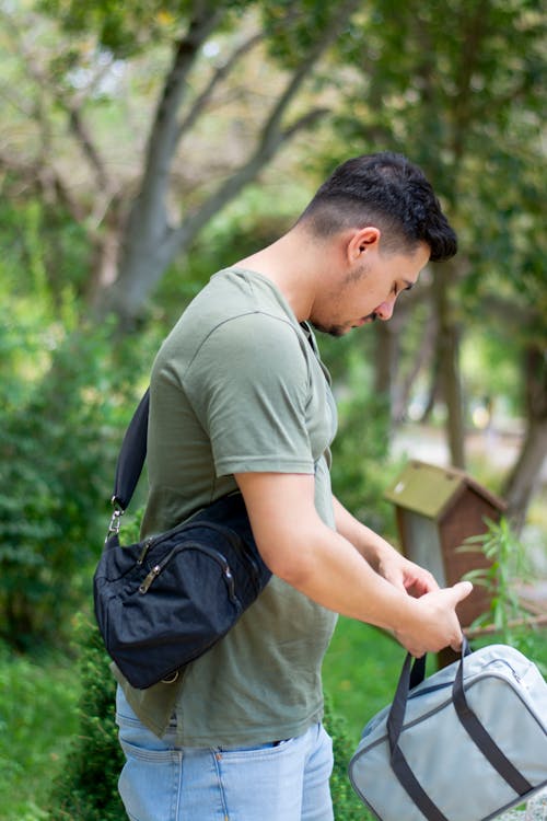
M 485 518 L 498 521 L 505 504 L 463 471 L 411 461 L 385 497 L 395 506 L 403 553 L 426 567 L 440 587 L 454 585 L 469 570 L 488 568 L 481 552 L 457 548 L 486 532 Z M 476 585 L 457 606 L 468 627 L 490 605 L 488 591 Z

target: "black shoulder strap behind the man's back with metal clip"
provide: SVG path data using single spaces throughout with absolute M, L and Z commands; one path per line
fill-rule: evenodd
M 114 492 L 112 504 L 114 512 L 106 539 L 119 532 L 120 517 L 131 501 L 135 488 L 139 482 L 147 458 L 148 437 L 148 413 L 150 406 L 150 389 L 147 389 L 139 402 L 131 421 L 125 432 L 121 448 L 116 464 L 116 476 L 114 478 Z

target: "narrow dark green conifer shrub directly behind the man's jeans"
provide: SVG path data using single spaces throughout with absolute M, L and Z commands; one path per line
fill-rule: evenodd
M 80 617 L 81 697 L 79 732 L 54 786 L 49 811 L 55 821 L 124 821 L 117 791 L 124 756 L 115 722 L 116 683 L 95 624 Z

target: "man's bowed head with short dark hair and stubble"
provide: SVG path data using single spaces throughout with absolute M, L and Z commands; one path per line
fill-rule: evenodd
M 310 320 L 341 336 L 388 320 L 395 300 L 429 262 L 454 256 L 456 234 L 423 173 L 400 154 L 358 157 L 321 186 L 296 228 L 337 250 L 334 275 L 316 292 Z

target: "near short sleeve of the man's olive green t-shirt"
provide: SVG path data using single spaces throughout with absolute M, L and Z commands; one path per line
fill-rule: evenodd
M 289 322 L 252 313 L 217 327 L 184 379 L 217 475 L 313 473 L 309 384 L 306 357 Z

